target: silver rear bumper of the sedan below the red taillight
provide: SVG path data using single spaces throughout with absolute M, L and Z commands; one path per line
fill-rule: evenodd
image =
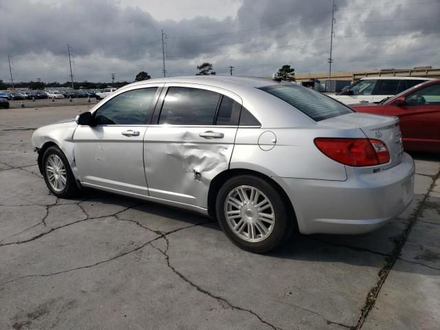
M 414 196 L 415 166 L 402 162 L 378 173 L 347 170 L 346 181 L 273 177 L 292 201 L 303 234 L 362 234 L 404 212 Z

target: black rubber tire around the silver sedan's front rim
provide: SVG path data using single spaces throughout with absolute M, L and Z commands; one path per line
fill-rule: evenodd
M 61 159 L 61 162 L 63 162 L 63 165 L 65 167 L 65 174 L 66 174 L 66 183 L 62 190 L 55 190 L 50 182 L 49 179 L 47 179 L 47 159 L 50 157 L 50 155 L 56 155 Z M 61 198 L 71 198 L 78 195 L 79 189 L 76 185 L 75 177 L 72 173 L 72 170 L 70 169 L 69 162 L 67 162 L 67 158 L 65 157 L 63 151 L 61 151 L 58 146 L 50 146 L 47 148 L 43 154 L 43 159 L 41 160 L 41 168 L 43 170 L 43 177 L 44 181 L 46 183 L 47 188 L 54 194 L 56 197 Z

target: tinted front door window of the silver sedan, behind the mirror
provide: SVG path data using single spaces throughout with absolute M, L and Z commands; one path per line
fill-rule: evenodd
M 97 125 L 145 124 L 157 87 L 134 89 L 115 96 L 96 111 Z

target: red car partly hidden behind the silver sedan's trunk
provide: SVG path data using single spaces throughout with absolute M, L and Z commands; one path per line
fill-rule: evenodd
M 379 104 L 350 107 L 359 112 L 399 117 L 406 150 L 440 152 L 440 80 L 421 83 Z

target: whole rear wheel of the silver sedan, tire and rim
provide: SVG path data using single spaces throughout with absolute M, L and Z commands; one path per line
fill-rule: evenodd
M 293 219 L 283 197 L 261 177 L 228 179 L 217 195 L 216 212 L 226 236 L 249 252 L 274 250 L 292 233 Z

